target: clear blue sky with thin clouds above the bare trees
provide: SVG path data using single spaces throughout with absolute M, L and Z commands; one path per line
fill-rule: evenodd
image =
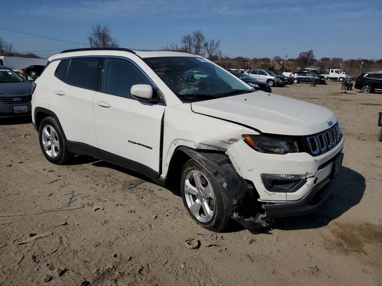
M 382 58 L 382 0 L 0 0 L 0 7 L 0 27 L 73 42 L 88 43 L 100 22 L 127 48 L 180 43 L 200 29 L 232 56 L 295 58 L 313 49 L 317 59 Z M 79 46 L 3 29 L 0 37 L 44 56 Z

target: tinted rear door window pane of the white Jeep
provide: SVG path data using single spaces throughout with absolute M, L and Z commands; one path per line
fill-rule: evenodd
M 101 58 L 70 59 L 65 81 L 79 87 L 97 89 Z

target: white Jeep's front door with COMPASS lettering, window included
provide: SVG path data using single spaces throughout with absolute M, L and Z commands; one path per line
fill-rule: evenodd
M 165 106 L 131 96 L 135 84 L 151 81 L 130 60 L 106 58 L 102 90 L 94 95 L 100 156 L 152 176 L 159 174 L 161 122 Z

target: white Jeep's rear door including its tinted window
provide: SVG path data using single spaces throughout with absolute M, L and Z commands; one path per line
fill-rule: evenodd
M 55 71 L 49 109 L 58 117 L 69 141 L 97 148 L 93 119 L 93 97 L 101 58 L 63 59 Z

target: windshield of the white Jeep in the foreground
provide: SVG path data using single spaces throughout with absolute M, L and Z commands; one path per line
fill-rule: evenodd
M 183 102 L 251 92 L 247 84 L 204 58 L 144 58 L 146 64 Z

